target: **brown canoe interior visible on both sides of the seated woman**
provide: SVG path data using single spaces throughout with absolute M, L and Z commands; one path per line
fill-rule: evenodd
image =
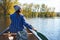
M 27 32 L 28 32 L 28 40 L 39 40 L 37 36 L 35 36 L 34 33 L 32 33 L 32 31 L 26 29 Z M 9 40 L 8 38 L 8 34 L 7 31 L 4 32 L 2 35 L 0 35 L 0 40 Z M 10 33 L 14 39 L 13 40 L 16 40 L 16 33 Z

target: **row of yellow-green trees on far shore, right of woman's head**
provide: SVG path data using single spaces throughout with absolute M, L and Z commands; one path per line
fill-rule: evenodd
M 20 5 L 21 6 L 21 5 Z M 22 5 L 24 15 L 27 18 L 33 17 L 55 17 L 55 8 L 48 8 L 47 5 L 42 4 L 23 4 Z

